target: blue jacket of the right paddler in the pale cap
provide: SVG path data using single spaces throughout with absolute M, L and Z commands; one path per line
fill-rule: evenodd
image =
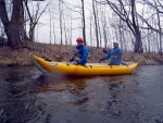
M 122 50 L 120 48 L 113 48 L 112 51 L 106 52 L 104 60 L 109 58 L 111 58 L 110 65 L 120 65 L 122 61 Z

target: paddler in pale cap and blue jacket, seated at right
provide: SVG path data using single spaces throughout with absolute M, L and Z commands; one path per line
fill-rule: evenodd
M 106 54 L 104 58 L 99 60 L 99 63 L 103 60 L 110 59 L 111 62 L 110 65 L 120 65 L 122 62 L 122 50 L 118 48 L 118 42 L 113 42 L 113 50 L 108 51 L 105 48 L 103 49 L 103 52 Z

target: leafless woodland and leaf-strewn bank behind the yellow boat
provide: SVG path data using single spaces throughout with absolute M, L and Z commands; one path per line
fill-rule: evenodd
M 163 60 L 162 0 L 0 0 L 0 19 L 1 65 L 30 64 L 25 63 L 29 52 L 67 61 L 77 37 L 89 47 L 90 62 L 97 62 L 101 48 L 115 40 L 125 60 L 141 64 Z M 48 41 L 38 38 L 45 26 Z

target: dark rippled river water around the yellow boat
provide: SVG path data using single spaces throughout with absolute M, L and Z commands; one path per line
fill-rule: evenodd
M 163 65 L 95 77 L 0 67 L 0 123 L 163 123 L 162 94 Z

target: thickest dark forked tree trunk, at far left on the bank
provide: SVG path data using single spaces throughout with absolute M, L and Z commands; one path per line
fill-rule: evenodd
M 4 32 L 8 37 L 8 46 L 11 48 L 16 48 L 21 46 L 21 28 L 22 23 L 20 23 L 20 14 L 22 8 L 22 0 L 13 0 L 13 10 L 11 21 L 9 21 L 5 1 L 0 0 L 0 17 L 2 20 Z

